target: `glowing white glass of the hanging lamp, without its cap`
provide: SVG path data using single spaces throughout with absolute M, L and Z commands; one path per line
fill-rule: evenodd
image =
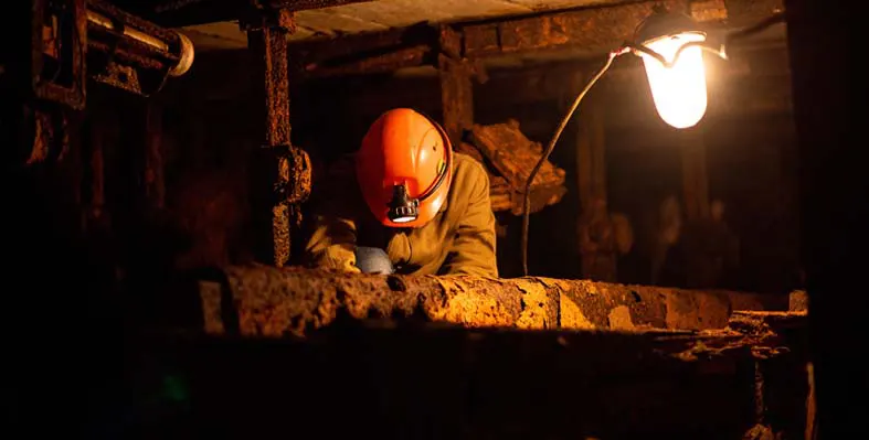
M 645 42 L 644 45 L 672 62 L 676 52 L 689 42 L 702 42 L 701 33 L 686 32 Z M 675 128 L 689 128 L 699 122 L 707 108 L 706 69 L 699 46 L 681 52 L 679 60 L 667 67 L 648 54 L 642 54 L 651 88 L 655 108 L 665 122 Z

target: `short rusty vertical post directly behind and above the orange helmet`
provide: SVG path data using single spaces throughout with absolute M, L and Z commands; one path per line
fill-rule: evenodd
M 446 130 L 453 148 L 458 148 L 462 135 L 474 126 L 474 85 L 471 66 L 460 57 L 460 35 L 449 26 L 441 28 L 441 104 Z

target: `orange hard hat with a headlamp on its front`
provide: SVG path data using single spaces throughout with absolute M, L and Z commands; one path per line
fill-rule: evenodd
M 410 108 L 396 108 L 368 129 L 356 169 L 365 202 L 380 223 L 420 227 L 446 201 L 453 148 L 437 122 Z

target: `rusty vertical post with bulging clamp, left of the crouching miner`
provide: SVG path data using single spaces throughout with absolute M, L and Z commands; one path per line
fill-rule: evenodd
M 289 11 L 257 10 L 242 23 L 254 57 L 254 95 L 262 105 L 263 148 L 252 170 L 253 216 L 263 244 L 256 254 L 283 267 L 290 257 L 290 232 L 301 221 L 298 204 L 310 194 L 310 159 L 293 147 L 289 138 L 287 35 L 294 22 Z M 269 242 L 267 256 L 265 244 Z

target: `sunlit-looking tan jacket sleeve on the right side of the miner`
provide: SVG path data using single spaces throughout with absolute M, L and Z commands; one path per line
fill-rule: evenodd
M 498 278 L 495 256 L 495 213 L 489 200 L 489 175 L 481 165 L 468 168 L 468 206 L 456 228 L 441 275 Z

